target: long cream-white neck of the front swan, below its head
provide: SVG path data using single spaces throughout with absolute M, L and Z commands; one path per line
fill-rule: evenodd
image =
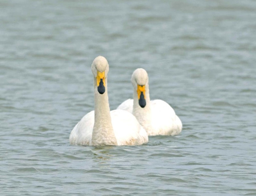
M 105 92 L 100 94 L 94 79 L 94 126 L 92 131 L 92 145 L 117 145 L 116 137 L 111 123 L 108 103 L 107 78 L 105 79 Z

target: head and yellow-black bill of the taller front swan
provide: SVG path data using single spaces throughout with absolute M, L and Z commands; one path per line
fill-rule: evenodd
M 92 74 L 96 80 L 98 92 L 103 94 L 105 92 L 106 83 L 109 70 L 108 61 L 103 56 L 96 57 L 92 62 Z

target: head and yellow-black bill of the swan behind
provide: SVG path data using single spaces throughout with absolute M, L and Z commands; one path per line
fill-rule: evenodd
M 145 69 L 136 69 L 132 74 L 132 85 L 138 94 L 140 107 L 146 106 L 146 85 L 148 85 L 148 73 Z

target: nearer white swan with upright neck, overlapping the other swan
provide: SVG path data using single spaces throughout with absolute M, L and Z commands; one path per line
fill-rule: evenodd
M 84 146 L 141 145 L 148 134 L 138 120 L 124 110 L 110 111 L 108 103 L 108 61 L 98 56 L 92 62 L 94 111 L 87 113 L 73 128 L 70 144 Z

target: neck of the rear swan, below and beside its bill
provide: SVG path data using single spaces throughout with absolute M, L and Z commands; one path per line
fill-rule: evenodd
M 145 99 L 146 106 L 144 108 L 140 107 L 137 90 L 133 91 L 133 111 L 132 114 L 137 118 L 139 123 L 144 127 L 144 129 L 152 130 L 151 125 L 151 107 L 150 107 L 150 97 L 149 97 L 149 87 L 148 83 L 145 86 Z

